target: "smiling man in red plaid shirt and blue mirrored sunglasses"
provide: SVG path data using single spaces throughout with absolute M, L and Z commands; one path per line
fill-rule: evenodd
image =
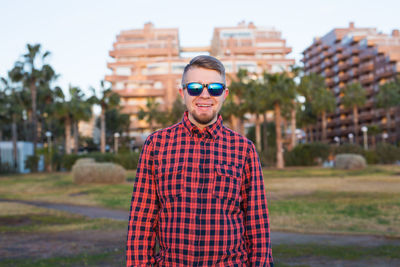
M 218 115 L 225 84 L 216 58 L 198 56 L 185 67 L 182 121 L 151 134 L 140 156 L 127 266 L 273 266 L 255 147 Z

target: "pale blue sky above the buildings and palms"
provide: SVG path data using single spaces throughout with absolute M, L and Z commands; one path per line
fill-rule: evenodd
M 210 44 L 214 27 L 240 21 L 275 27 L 293 51 L 333 28 L 373 27 L 390 34 L 400 29 L 399 0 L 0 0 L 0 77 L 26 53 L 26 44 L 50 51 L 48 63 L 59 74 L 56 85 L 71 84 L 89 94 L 110 74 L 109 51 L 121 30 L 179 28 L 182 46 Z

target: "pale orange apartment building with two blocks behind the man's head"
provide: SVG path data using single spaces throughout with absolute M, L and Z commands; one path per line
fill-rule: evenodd
M 121 96 L 122 112 L 131 115 L 132 136 L 149 132 L 146 122 L 136 115 L 147 98 L 155 98 L 164 110 L 172 106 L 190 60 L 184 56 L 186 52 L 219 58 L 228 77 L 240 68 L 253 73 L 280 72 L 294 64 L 293 59 L 286 58 L 291 48 L 281 33 L 274 28 L 257 28 L 253 23 L 215 28 L 206 47 L 181 47 L 177 28 L 155 28 L 152 23 L 143 29 L 122 31 L 110 51 L 114 62 L 108 63 L 108 68 L 112 74 L 105 79 Z

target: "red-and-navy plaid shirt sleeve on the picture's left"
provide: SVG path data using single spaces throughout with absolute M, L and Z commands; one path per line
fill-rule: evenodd
M 133 187 L 126 245 L 126 266 L 152 266 L 159 202 L 154 181 L 153 143 L 148 138 L 140 154 Z

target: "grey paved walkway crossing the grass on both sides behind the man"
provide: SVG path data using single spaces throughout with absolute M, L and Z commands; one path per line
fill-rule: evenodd
M 89 218 L 106 218 L 128 223 L 129 212 L 111 210 L 90 206 L 71 204 L 54 204 L 47 202 L 0 199 L 0 202 L 13 202 L 33 205 L 42 208 L 61 210 L 69 213 L 80 214 Z M 301 234 L 289 232 L 271 233 L 272 244 L 321 244 L 331 246 L 363 246 L 377 247 L 382 245 L 400 245 L 400 239 L 390 239 L 372 235 L 333 235 L 333 234 Z

